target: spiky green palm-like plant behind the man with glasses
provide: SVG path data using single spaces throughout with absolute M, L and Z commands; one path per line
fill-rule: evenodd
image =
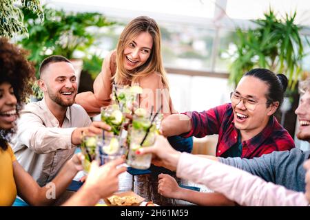
M 265 13 L 264 19 L 253 21 L 257 27 L 247 31 L 237 28 L 236 52 L 230 67 L 229 80 L 237 85 L 245 72 L 254 67 L 284 73 L 289 79 L 289 89 L 296 87 L 302 72 L 303 45 L 300 40 L 300 25 L 294 23 L 296 12 L 280 20 L 273 10 Z

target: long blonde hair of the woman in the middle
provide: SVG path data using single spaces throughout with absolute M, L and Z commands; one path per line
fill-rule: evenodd
M 140 67 L 131 71 L 125 69 L 124 50 L 141 32 L 148 32 L 153 39 L 153 47 L 147 61 Z M 124 85 L 128 81 L 132 84 L 138 83 L 138 80 L 149 73 L 158 72 L 162 76 L 163 85 L 169 89 L 167 74 L 163 68 L 163 59 L 161 56 L 161 30 L 154 21 L 146 16 L 136 17 L 128 23 L 121 33 L 116 47 L 116 74 L 113 79 L 116 84 Z

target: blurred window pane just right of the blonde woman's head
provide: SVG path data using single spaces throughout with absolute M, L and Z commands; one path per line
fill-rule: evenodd
M 210 69 L 215 31 L 193 25 L 161 25 L 165 66 Z

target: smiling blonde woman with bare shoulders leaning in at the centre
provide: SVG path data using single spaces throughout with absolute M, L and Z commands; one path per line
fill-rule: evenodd
M 100 108 L 111 102 L 113 82 L 116 85 L 140 85 L 143 88 L 140 107 L 148 111 L 152 107 L 156 111 L 162 105 L 164 117 L 176 113 L 163 68 L 161 31 L 154 19 L 141 16 L 126 25 L 116 50 L 107 55 L 101 73 L 94 81 L 94 93 L 77 94 L 76 103 L 91 116 L 100 113 Z M 192 138 L 173 136 L 168 140 L 179 151 L 192 151 Z

